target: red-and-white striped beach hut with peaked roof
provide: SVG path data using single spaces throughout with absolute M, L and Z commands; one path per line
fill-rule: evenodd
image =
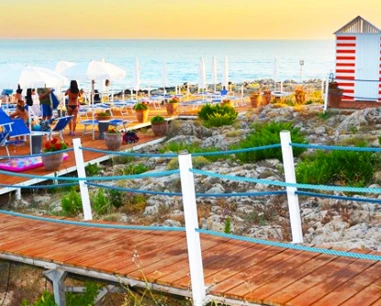
M 381 102 L 381 30 L 358 16 L 334 34 L 342 101 Z

